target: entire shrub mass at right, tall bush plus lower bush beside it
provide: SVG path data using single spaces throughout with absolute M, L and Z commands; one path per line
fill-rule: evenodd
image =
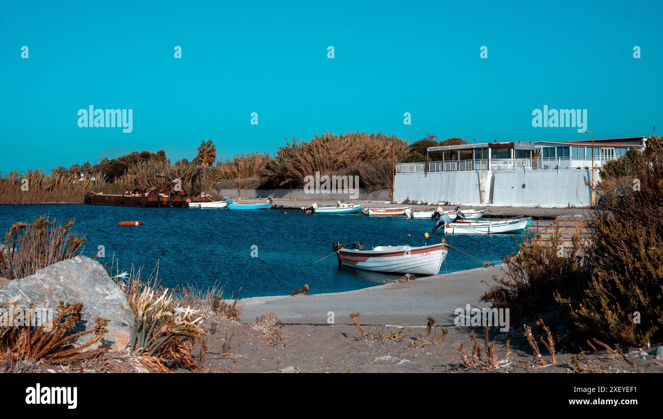
M 558 237 L 522 245 L 481 300 L 511 309 L 516 322 L 566 325 L 578 343 L 589 337 L 626 346 L 662 342 L 663 141 L 650 139 L 644 152 L 620 164 L 626 166 L 606 172 L 618 178 L 601 180 L 604 198 L 591 208 L 581 260 L 558 257 Z M 625 184 L 631 187 L 614 190 Z

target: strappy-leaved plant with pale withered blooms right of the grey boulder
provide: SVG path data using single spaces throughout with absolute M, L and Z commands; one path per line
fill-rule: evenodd
M 168 288 L 158 286 L 158 265 L 145 281 L 141 273 L 141 269 L 131 267 L 126 278 L 119 280 L 135 319 L 129 355 L 172 360 L 187 369 L 200 369 L 192 349 L 206 335 L 202 317 L 196 310 L 180 306 Z

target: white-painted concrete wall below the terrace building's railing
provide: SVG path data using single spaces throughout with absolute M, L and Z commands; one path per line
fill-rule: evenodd
M 484 204 L 497 206 L 583 207 L 591 204 L 585 179 L 590 169 L 484 170 Z M 598 180 L 598 170 L 594 173 Z M 396 174 L 394 200 L 481 204 L 481 172 L 415 172 Z

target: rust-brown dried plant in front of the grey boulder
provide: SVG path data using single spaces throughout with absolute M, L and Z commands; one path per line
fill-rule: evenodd
M 60 302 L 58 316 L 53 320 L 52 328 L 46 328 L 45 325 L 0 327 L 0 363 L 17 360 L 32 363 L 76 363 L 105 353 L 106 349 L 103 348 L 84 350 L 97 343 L 107 332 L 105 327 L 108 320 L 97 318 L 93 328 L 78 333 L 72 332 L 81 318 L 82 309 L 83 305 L 80 303 Z M 27 323 L 32 324 L 30 316 Z M 88 343 L 74 343 L 79 337 L 90 334 L 94 336 Z

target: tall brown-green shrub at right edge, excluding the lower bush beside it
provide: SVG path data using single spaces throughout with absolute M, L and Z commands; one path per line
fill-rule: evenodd
M 579 334 L 636 346 L 663 341 L 663 140 L 649 139 L 629 161 L 626 179 L 602 181 L 605 204 L 592 208 L 591 280 L 582 298 L 564 302 Z M 611 192 L 624 180 L 631 188 Z

